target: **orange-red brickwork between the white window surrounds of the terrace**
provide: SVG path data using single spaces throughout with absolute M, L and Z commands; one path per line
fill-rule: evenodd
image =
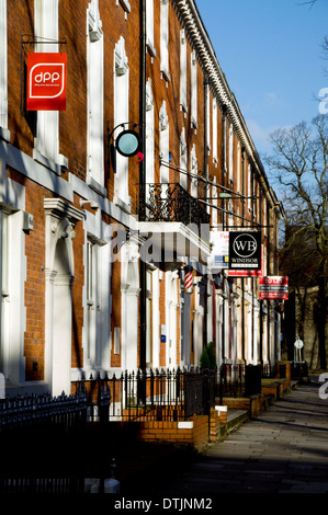
M 67 0 L 59 2 L 59 38 L 66 39 L 66 45 L 60 50 L 68 54 L 68 81 L 67 81 L 67 110 L 59 113 L 59 152 L 68 158 L 68 170 L 63 171 L 61 179 L 68 180 L 69 173 L 86 181 L 87 178 L 87 38 L 86 23 L 87 9 L 89 0 L 79 2 L 69 2 Z M 220 162 L 222 162 L 222 112 L 218 106 L 217 116 L 217 165 L 213 163 L 213 149 L 206 149 L 204 153 L 204 77 L 203 70 L 197 61 L 197 121 L 199 128 L 195 130 L 191 126 L 191 54 L 195 42 L 186 33 L 186 103 L 188 112 L 180 110 L 180 31 L 182 28 L 180 19 L 174 11 L 174 2 L 169 2 L 169 73 L 170 80 L 167 81 L 160 70 L 160 2 L 155 2 L 155 49 L 156 57 L 147 54 L 146 80 L 151 79 L 154 93 L 155 112 L 155 181 L 159 181 L 159 111 L 162 102 L 166 101 L 167 113 L 170 124 L 170 152 L 172 165 L 180 164 L 180 136 L 182 129 L 185 130 L 185 140 L 188 146 L 188 168 L 190 169 L 190 152 L 195 145 L 196 157 L 200 173 L 204 171 L 204 157 L 207 158 L 210 179 L 217 178 L 220 182 Z M 104 34 L 104 131 L 106 128 L 113 129 L 114 125 L 114 99 L 113 99 L 113 77 L 114 77 L 114 47 L 121 36 L 126 44 L 126 55 L 129 68 L 129 99 L 128 112 L 129 121 L 140 122 L 140 19 L 139 2 L 132 4 L 131 12 L 126 15 L 122 3 L 116 4 L 116 0 L 99 0 L 100 18 Z M 21 113 L 21 44 L 20 35 L 34 33 L 34 1 L 33 0 L 8 0 L 8 77 L 9 77 L 9 130 L 11 133 L 11 144 L 25 154 L 33 156 L 34 147 L 34 113 Z M 23 57 L 25 50 L 34 50 L 32 46 L 23 46 Z M 23 59 L 23 60 L 24 60 Z M 212 122 L 213 91 L 210 87 L 210 118 Z M 227 123 L 227 130 L 228 130 Z M 212 127 L 212 123 L 211 123 Z M 210 131 L 212 134 L 212 129 Z M 212 140 L 210 140 L 212 147 Z M 237 139 L 234 138 L 236 148 Z M 104 142 L 106 147 L 106 141 Z M 228 156 L 228 138 L 227 138 Z M 105 149 L 105 162 L 108 158 Z M 227 159 L 228 162 L 228 159 Z M 237 165 L 236 157 L 234 161 Z M 246 160 L 245 169 L 247 171 L 248 162 Z M 241 170 L 241 165 L 240 165 Z M 25 285 L 25 306 L 26 306 L 26 331 L 24 342 L 24 357 L 26 359 L 26 379 L 39 380 L 44 378 L 44 339 L 45 339 L 45 281 L 43 266 L 45 265 L 45 216 L 43 209 L 44 197 L 50 197 L 52 191 L 20 176 L 13 170 L 9 170 L 9 175 L 25 186 L 26 210 L 34 216 L 34 230 L 25 238 L 26 249 L 26 285 Z M 246 173 L 247 178 L 247 173 Z M 54 174 L 54 181 L 57 180 Z M 247 180 L 247 179 L 246 179 Z M 129 195 L 132 197 L 132 214 L 136 213 L 139 164 L 137 160 L 129 160 Z M 170 170 L 170 181 L 180 181 L 180 174 L 176 170 Z M 114 174 L 112 167 L 105 167 L 105 186 L 109 198 L 113 198 Z M 200 196 L 203 190 L 199 191 Z M 212 188 L 212 193 L 217 193 Z M 79 207 L 79 198 L 75 195 L 73 204 Z M 217 222 L 220 221 L 218 211 Z M 109 219 L 108 222 L 111 220 Z M 72 366 L 83 367 L 82 353 L 82 289 L 84 281 L 83 270 L 83 242 L 84 233 L 82 224 L 76 228 L 76 238 L 73 240 L 75 251 L 75 275 L 76 279 L 72 286 Z M 166 295 L 165 282 L 160 281 L 160 324 L 166 324 Z M 177 285 L 178 286 L 178 285 Z M 121 264 L 113 263 L 112 274 L 113 307 L 111 328 L 122 327 L 121 313 Z M 194 296 L 193 296 L 194 307 Z M 192 314 L 193 317 L 193 314 Z M 180 355 L 180 310 L 177 309 L 177 355 Z M 158 328 L 160 331 L 160 328 Z M 139 342 L 139 333 L 137 334 Z M 167 366 L 166 345 L 160 343 L 159 365 Z M 192 353 L 192 362 L 194 359 Z M 120 367 L 122 364 L 121 355 L 113 354 L 111 365 Z M 197 365 L 197 364 L 195 364 Z

